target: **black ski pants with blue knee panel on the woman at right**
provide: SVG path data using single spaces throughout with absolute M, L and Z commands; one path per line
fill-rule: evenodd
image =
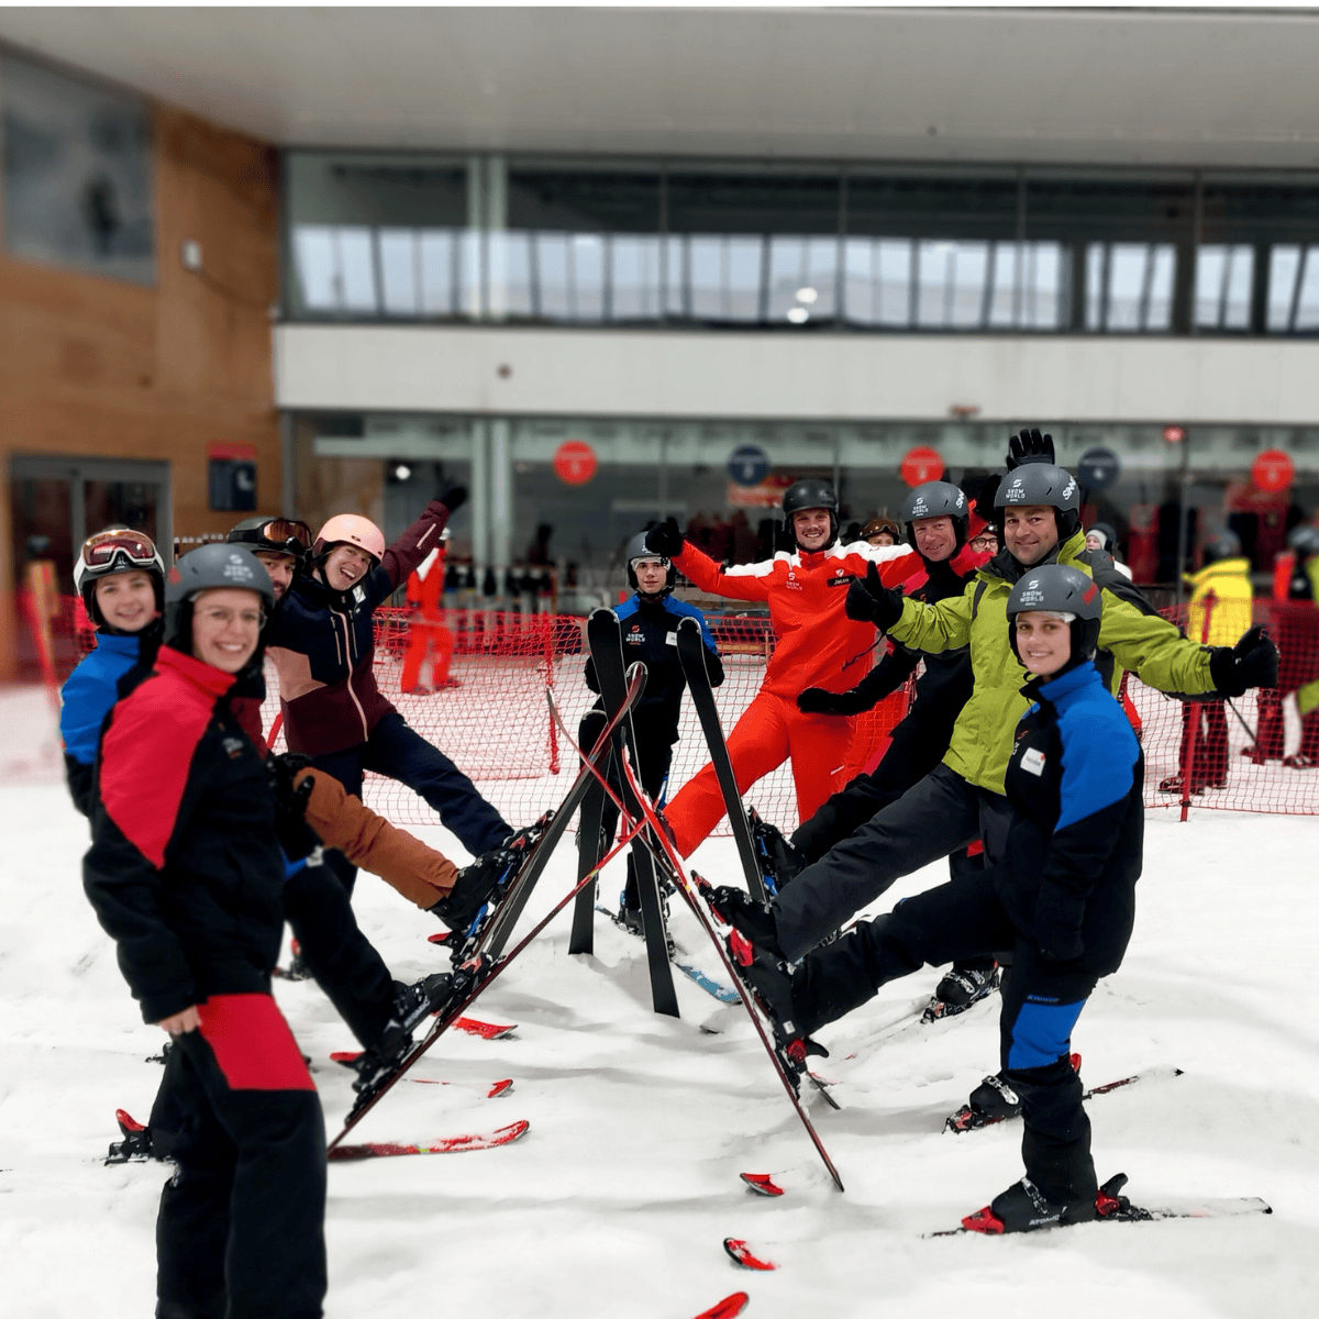
M 904 898 L 810 954 L 793 977 L 798 1025 L 814 1030 L 871 998 L 880 985 L 921 967 L 1012 950 L 998 1017 L 1000 1063 L 1021 1097 L 1026 1175 L 1050 1199 L 1093 1203 L 1097 1183 L 1071 1031 L 1096 977 L 1050 962 L 1024 936 L 995 892 L 996 871 Z

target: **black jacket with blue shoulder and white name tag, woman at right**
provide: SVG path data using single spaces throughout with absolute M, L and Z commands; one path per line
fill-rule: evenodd
M 1046 958 L 1095 976 L 1121 964 L 1136 917 L 1145 762 L 1121 706 L 1086 662 L 1025 694 L 1004 787 L 1014 810 L 1000 901 Z

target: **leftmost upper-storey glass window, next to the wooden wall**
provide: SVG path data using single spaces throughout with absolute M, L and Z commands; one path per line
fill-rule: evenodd
M 479 306 L 466 162 L 293 152 L 285 203 L 294 315 L 452 317 Z

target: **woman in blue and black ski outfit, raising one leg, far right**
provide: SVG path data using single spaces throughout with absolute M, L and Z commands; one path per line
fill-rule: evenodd
M 1120 1203 L 1099 1190 L 1071 1063 L 1076 1018 L 1132 935 L 1144 844 L 1140 744 L 1093 665 L 1100 608 L 1091 578 L 1058 563 L 1013 587 L 1009 638 L 1035 703 L 1008 764 L 1002 861 L 861 922 L 791 975 L 764 952 L 747 971 L 791 1043 L 922 966 L 1010 950 L 1000 1047 L 1026 1173 L 963 1219 L 975 1232 L 1080 1223 Z

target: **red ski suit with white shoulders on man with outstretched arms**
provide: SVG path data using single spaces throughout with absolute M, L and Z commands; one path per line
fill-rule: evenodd
M 874 624 L 852 621 L 843 608 L 848 584 L 878 565 L 885 586 L 911 572 L 905 545 L 834 545 L 810 554 L 780 551 L 761 563 L 720 567 L 692 545 L 674 559 L 702 591 L 733 600 L 764 600 L 774 630 L 774 654 L 756 698 L 728 735 L 737 790 L 791 757 L 797 813 L 803 820 L 834 790 L 834 772 L 847 758 L 852 721 L 844 715 L 806 715 L 797 695 L 806 687 L 848 691 L 869 673 Z M 690 856 L 724 818 L 714 765 L 706 765 L 667 810 L 678 851 Z

